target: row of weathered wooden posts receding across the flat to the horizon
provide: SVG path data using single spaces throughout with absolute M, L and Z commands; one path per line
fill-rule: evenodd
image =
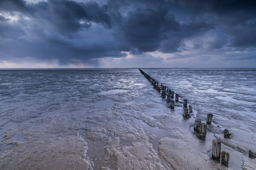
M 154 85 L 154 88 L 161 93 L 161 96 L 165 99 L 166 95 L 166 102 L 170 102 L 170 108 L 174 109 L 174 102 L 179 101 L 179 94 L 175 94 L 175 101 L 174 99 L 174 91 L 171 91 L 163 84 L 160 84 L 157 80 L 150 77 L 148 74 L 146 74 L 144 71 L 142 71 L 139 68 L 140 72 L 151 82 L 152 85 Z M 162 91 L 161 91 L 162 90 Z M 189 113 L 192 113 L 192 106 L 189 105 L 189 109 L 187 108 L 187 99 L 183 99 L 183 116 L 188 119 Z M 207 113 L 206 123 L 202 123 L 201 120 L 195 120 L 194 124 L 194 131 L 199 133 L 199 139 L 205 139 L 206 132 L 207 132 L 207 125 L 210 125 L 212 122 L 213 115 L 211 113 Z M 229 137 L 230 133 L 227 129 L 224 130 L 224 137 Z M 221 142 L 214 139 L 212 140 L 212 159 L 219 160 L 221 158 L 221 164 L 224 164 L 228 166 L 229 161 L 229 153 L 228 152 L 221 152 Z

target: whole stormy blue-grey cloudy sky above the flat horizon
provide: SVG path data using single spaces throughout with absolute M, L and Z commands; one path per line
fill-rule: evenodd
M 255 0 L 0 0 L 0 68 L 256 68 L 255 9 Z

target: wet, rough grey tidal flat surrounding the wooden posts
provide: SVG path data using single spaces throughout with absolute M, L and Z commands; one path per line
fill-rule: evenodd
M 138 69 L 0 70 L 0 169 L 224 170 L 209 159 L 212 139 L 230 169 L 256 169 L 255 69 L 143 71 L 179 94 L 174 111 Z M 194 120 L 207 113 L 200 140 Z

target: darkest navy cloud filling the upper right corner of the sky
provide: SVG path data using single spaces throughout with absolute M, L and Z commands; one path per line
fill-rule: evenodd
M 231 46 L 251 47 L 256 45 L 255 0 L 210 0 L 179 1 L 197 15 L 207 14 L 231 37 Z

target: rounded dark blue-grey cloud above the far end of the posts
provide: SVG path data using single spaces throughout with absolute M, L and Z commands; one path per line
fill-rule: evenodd
M 132 48 L 141 52 L 155 51 L 168 31 L 177 30 L 179 23 L 168 14 L 167 8 L 137 9 L 123 18 L 119 34 Z

